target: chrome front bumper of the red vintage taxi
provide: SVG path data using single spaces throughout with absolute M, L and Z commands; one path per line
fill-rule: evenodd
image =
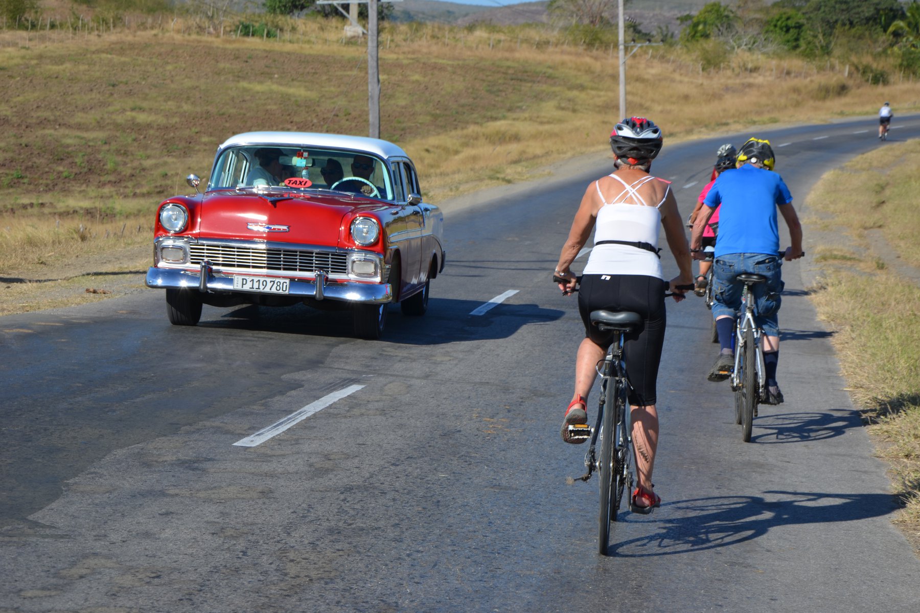
M 322 275 L 317 277 L 319 283 L 291 279 L 291 287 L 286 295 L 299 298 L 312 298 L 317 301 L 346 301 L 363 303 L 382 303 L 393 301 L 393 289 L 389 283 L 345 283 L 329 282 Z M 203 274 L 178 270 L 175 268 L 147 269 L 146 285 L 159 289 L 198 289 L 213 293 L 256 293 L 244 292 L 233 288 L 233 278 L 215 277 L 207 269 Z M 278 295 L 278 294 L 265 294 Z

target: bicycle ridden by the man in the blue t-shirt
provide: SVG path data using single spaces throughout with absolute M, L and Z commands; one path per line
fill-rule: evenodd
M 785 252 L 780 252 L 779 262 L 782 264 Z M 802 252 L 802 255 L 805 255 Z M 757 315 L 757 305 L 753 300 L 753 290 L 758 283 L 766 281 L 764 275 L 742 273 L 738 275 L 742 281 L 742 308 L 741 314 L 735 319 L 735 365 L 730 375 L 732 392 L 735 392 L 735 423 L 742 426 L 742 440 L 751 442 L 753 418 L 757 416 L 757 405 L 766 400 L 766 368 L 764 365 L 764 346 L 761 339 L 764 330 L 754 323 Z

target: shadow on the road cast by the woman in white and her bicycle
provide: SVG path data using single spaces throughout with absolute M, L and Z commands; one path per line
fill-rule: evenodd
M 776 492 L 695 498 L 661 505 L 658 529 L 611 545 L 626 558 L 696 553 L 764 536 L 772 528 L 882 517 L 897 509 L 892 494 Z M 630 521 L 631 515 L 623 520 Z M 655 516 L 652 516 L 655 517 Z M 642 523 L 656 523 L 643 520 Z

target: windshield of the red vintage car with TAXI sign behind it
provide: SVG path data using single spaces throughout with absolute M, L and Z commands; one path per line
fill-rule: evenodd
M 208 189 L 334 189 L 393 200 L 387 166 L 370 153 L 312 147 L 230 147 L 214 164 Z

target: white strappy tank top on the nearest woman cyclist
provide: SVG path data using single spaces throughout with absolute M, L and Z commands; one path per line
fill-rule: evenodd
M 664 198 L 656 206 L 650 207 L 638 195 L 642 187 L 654 176 L 643 176 L 632 185 L 619 176 L 611 174 L 623 184 L 621 191 L 613 200 L 607 202 L 601 193 L 601 186 L 595 182 L 597 194 L 604 202 L 597 211 L 594 227 L 594 247 L 584 267 L 585 275 L 645 275 L 661 277 L 661 258 L 646 249 L 631 244 L 598 244 L 602 241 L 627 241 L 629 243 L 648 243 L 658 249 L 658 229 L 661 227 L 659 207 L 668 197 L 669 186 Z M 624 202 L 631 196 L 636 204 Z

